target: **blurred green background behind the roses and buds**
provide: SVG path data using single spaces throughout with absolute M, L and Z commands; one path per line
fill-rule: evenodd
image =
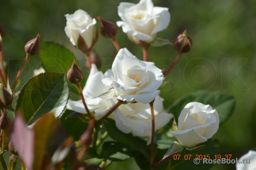
M 4 60 L 9 64 L 6 72 L 11 82 L 19 65 L 25 59 L 25 43 L 37 33 L 40 33 L 41 39 L 63 44 L 73 51 L 77 58 L 84 58 L 65 35 L 64 14 L 83 9 L 93 18 L 100 15 L 103 19 L 116 22 L 120 20 L 117 15 L 117 6 L 120 2 L 122 1 L 0 1 L 0 22 L 7 30 L 3 40 Z M 137 4 L 139 1 L 126 0 L 126 2 Z M 165 99 L 164 106 L 167 107 L 175 99 L 190 92 L 228 89 L 223 91 L 235 96 L 237 101 L 235 112 L 225 124 L 220 126 L 214 137 L 221 141 L 220 148 L 223 155 L 232 154 L 232 158 L 239 158 L 249 150 L 256 150 L 256 1 L 153 0 L 153 2 L 155 6 L 168 7 L 171 14 L 168 28 L 158 33 L 157 37 L 173 41 L 178 34 L 187 29 L 193 39 L 191 51 L 181 57 L 178 66 L 175 66 L 172 74 L 166 77 L 165 81 L 171 84 L 164 86 L 160 94 Z M 99 26 L 99 22 L 97 25 Z M 116 38 L 121 47 L 126 47 L 142 59 L 141 47 L 131 43 L 121 28 L 118 28 Z M 117 54 L 111 41 L 100 36 L 95 50 L 101 58 L 100 70 L 106 71 L 111 68 L 111 63 Z M 163 69 L 171 63 L 170 59 L 174 59 L 176 54 L 177 52 L 170 45 L 150 47 L 149 60 Z M 222 59 L 229 59 L 230 63 Z M 80 60 L 81 65 L 84 62 L 85 60 Z M 32 70 L 39 67 L 39 57 L 32 57 L 23 73 L 21 85 L 31 77 Z M 228 72 L 228 69 L 231 71 Z M 135 165 L 131 165 L 132 162 L 129 160 L 121 165 L 130 167 L 128 169 L 136 169 Z M 113 169 L 123 169 L 121 165 L 115 163 L 112 166 Z M 235 169 L 235 165 L 217 164 L 212 169 Z

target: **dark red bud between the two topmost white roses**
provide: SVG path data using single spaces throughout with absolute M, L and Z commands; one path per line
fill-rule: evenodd
M 114 38 L 117 34 L 117 26 L 113 22 L 102 19 L 100 16 L 98 16 L 98 19 L 100 20 L 100 32 L 102 36 L 105 38 Z

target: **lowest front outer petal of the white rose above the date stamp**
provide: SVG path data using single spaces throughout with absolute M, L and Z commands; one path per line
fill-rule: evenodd
M 194 129 L 171 131 L 170 133 L 177 138 L 182 146 L 187 148 L 192 148 L 199 143 L 207 141 L 205 137 L 199 135 Z

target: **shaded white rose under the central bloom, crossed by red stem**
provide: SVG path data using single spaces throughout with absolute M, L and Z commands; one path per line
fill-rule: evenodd
M 121 105 L 114 112 L 114 119 L 117 128 L 124 133 L 132 133 L 133 136 L 147 137 L 147 143 L 151 143 L 151 111 L 149 104 L 129 103 Z M 163 112 L 163 99 L 156 96 L 154 106 L 155 131 L 165 126 L 173 114 Z

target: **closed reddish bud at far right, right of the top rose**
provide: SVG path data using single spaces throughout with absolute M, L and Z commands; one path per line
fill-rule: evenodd
M 174 48 L 180 53 L 189 52 L 192 47 L 192 39 L 187 34 L 187 30 L 185 30 L 182 34 L 178 35 L 178 37 L 174 41 Z

